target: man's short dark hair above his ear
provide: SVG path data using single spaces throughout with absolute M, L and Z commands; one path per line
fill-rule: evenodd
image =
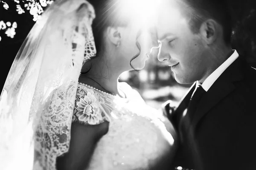
M 223 28 L 223 38 L 231 42 L 232 17 L 227 0 L 175 0 L 180 4 L 183 14 L 189 21 L 193 33 L 198 33 L 205 19 L 214 19 Z

